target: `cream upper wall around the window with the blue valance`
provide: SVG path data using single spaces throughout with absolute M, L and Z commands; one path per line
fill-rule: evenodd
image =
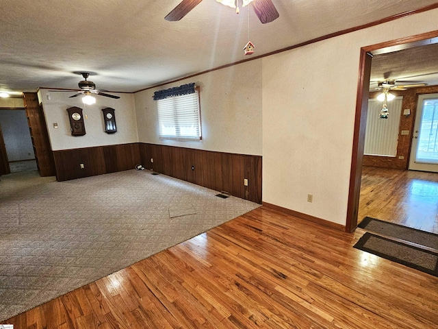
M 190 82 L 201 87 L 203 140 L 161 141 L 153 93 Z M 144 90 L 135 94 L 135 100 L 138 135 L 142 143 L 261 155 L 261 60 Z

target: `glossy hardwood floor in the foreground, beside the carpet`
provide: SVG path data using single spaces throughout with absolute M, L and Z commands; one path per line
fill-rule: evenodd
M 5 324 L 39 328 L 437 328 L 438 278 L 264 207 Z

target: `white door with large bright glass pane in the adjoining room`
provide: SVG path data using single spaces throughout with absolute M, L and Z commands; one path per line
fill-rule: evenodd
M 409 169 L 438 173 L 438 94 L 418 97 Z

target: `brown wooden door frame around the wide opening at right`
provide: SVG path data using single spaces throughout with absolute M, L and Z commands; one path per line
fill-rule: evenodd
M 348 190 L 347 218 L 345 226 L 346 232 L 353 232 L 357 228 L 372 56 L 435 43 L 438 43 L 438 30 L 381 42 L 376 45 L 361 48 L 359 81 L 357 84 L 355 130 L 353 133 L 350 167 L 350 187 Z

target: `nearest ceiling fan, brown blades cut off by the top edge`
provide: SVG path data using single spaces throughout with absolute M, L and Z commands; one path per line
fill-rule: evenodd
M 167 14 L 164 19 L 166 21 L 179 21 L 185 15 L 187 15 L 193 8 L 196 7 L 203 0 L 183 0 L 175 7 L 171 12 Z M 216 0 L 223 5 L 236 8 L 237 14 L 239 13 L 240 0 Z M 249 5 L 251 3 L 255 14 L 261 21 L 266 24 L 278 19 L 280 14 L 276 11 L 274 3 L 271 0 L 242 0 L 242 6 Z

